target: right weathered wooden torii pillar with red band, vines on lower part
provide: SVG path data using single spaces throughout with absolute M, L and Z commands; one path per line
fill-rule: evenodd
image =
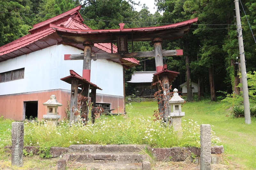
M 159 73 L 164 68 L 164 61 L 163 61 L 163 54 L 162 54 L 162 38 L 154 38 L 152 42 L 154 43 L 154 50 L 155 50 L 155 62 L 156 62 L 156 73 Z M 162 81 L 162 86 L 158 83 L 157 90 L 163 90 L 164 96 L 159 96 L 159 100 L 163 100 L 163 103 L 160 102 L 158 104 L 159 112 L 164 112 L 165 120 L 166 116 L 171 112 L 171 108 L 169 106 L 170 100 L 170 85 L 169 85 L 169 78 L 166 74 L 162 74 L 159 79 Z M 163 89 L 162 89 L 163 88 Z

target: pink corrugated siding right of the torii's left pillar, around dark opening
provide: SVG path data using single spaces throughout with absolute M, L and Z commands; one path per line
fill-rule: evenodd
M 96 94 L 96 103 L 110 103 L 112 113 L 124 113 L 124 97 Z

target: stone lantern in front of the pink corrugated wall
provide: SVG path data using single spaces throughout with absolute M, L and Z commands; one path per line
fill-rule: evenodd
M 47 114 L 43 115 L 45 120 L 48 120 L 53 125 L 57 125 L 60 115 L 58 115 L 58 106 L 62 106 L 57 100 L 55 95 L 52 95 L 50 99 L 43 103 L 44 106 L 47 106 Z

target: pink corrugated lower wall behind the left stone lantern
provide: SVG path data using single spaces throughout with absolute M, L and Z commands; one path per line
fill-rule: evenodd
M 61 119 L 66 117 L 67 100 L 70 101 L 69 90 L 49 90 L 0 96 L 0 116 L 4 116 L 7 119 L 22 120 L 23 102 L 38 101 L 38 118 L 42 119 L 43 115 L 46 114 L 46 107 L 42 103 L 49 100 L 51 95 L 55 95 L 58 102 L 62 104 L 61 107 L 58 107 Z

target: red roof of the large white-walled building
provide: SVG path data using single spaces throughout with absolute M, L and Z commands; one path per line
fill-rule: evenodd
M 8 59 L 18 57 L 20 55 L 28 54 L 43 48 L 53 46 L 56 44 L 63 43 L 60 36 L 57 35 L 56 31 L 49 27 L 50 23 L 54 23 L 60 27 L 67 27 L 70 29 L 78 30 L 91 30 L 87 25 L 83 24 L 84 21 L 78 10 L 81 6 L 78 6 L 72 10 L 69 10 L 63 14 L 56 17 L 50 18 L 44 22 L 33 25 L 27 34 L 19 39 L 16 39 L 4 46 L 0 47 L 0 62 Z M 75 46 L 79 49 L 84 50 L 82 44 L 71 44 L 68 45 Z M 96 48 L 95 48 L 96 47 Z M 94 53 L 111 53 L 110 43 L 98 43 L 94 44 L 92 49 Z M 117 52 L 117 47 L 113 45 L 113 53 Z M 127 63 L 126 67 L 132 67 L 139 64 L 136 59 L 122 59 L 121 61 L 116 61 L 118 63 Z

